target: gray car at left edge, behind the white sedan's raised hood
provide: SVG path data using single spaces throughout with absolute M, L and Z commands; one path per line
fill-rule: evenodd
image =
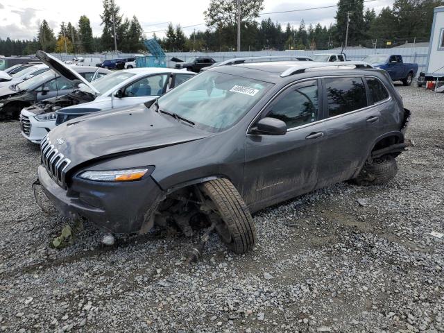
M 37 51 L 37 56 L 38 54 L 40 53 Z M 53 67 L 17 85 L 1 87 L 0 120 L 17 119 L 23 108 L 44 99 L 69 94 L 80 83 L 87 83 L 88 80 L 108 73 L 110 71 L 99 67 L 72 66 L 69 69 Z

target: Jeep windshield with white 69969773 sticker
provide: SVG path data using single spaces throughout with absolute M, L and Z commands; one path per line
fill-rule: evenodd
M 244 117 L 271 86 L 251 78 L 205 71 L 161 96 L 159 109 L 188 119 L 200 129 L 220 132 Z

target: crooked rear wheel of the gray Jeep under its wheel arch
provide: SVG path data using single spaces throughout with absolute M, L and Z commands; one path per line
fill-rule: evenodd
M 373 160 L 373 163 L 366 163 L 362 167 L 357 178 L 352 179 L 356 185 L 380 185 L 395 178 L 398 173 L 398 164 L 391 155 L 384 155 Z

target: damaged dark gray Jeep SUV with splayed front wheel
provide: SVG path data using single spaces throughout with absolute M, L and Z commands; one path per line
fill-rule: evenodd
M 386 71 L 364 62 L 216 66 L 157 101 L 51 130 L 38 181 L 60 213 L 105 232 L 207 228 L 245 253 L 251 213 L 391 180 L 409 117 Z

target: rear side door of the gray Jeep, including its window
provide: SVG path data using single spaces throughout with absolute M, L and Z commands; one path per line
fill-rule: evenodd
M 379 109 L 370 105 L 363 78 L 323 78 L 327 139 L 318 164 L 316 188 L 348 180 L 366 160 L 379 133 Z

